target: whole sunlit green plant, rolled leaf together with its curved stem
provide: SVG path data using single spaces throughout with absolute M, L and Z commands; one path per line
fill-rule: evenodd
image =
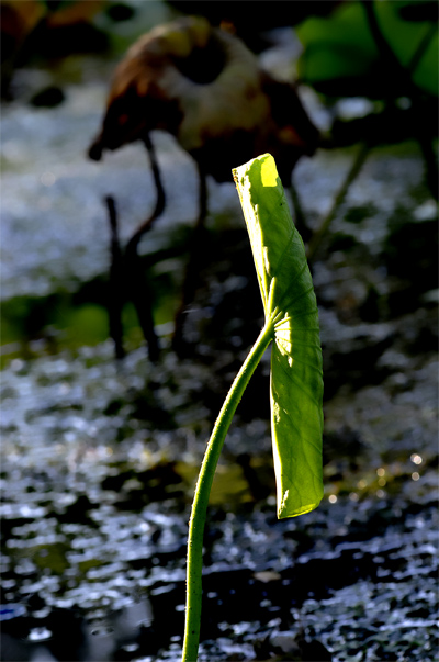
M 323 373 L 318 312 L 304 245 L 274 159 L 266 154 L 233 171 L 250 237 L 264 326 L 216 419 L 201 465 L 188 538 L 182 662 L 198 658 L 203 532 L 215 468 L 236 407 L 262 355 L 271 354 L 271 429 L 278 517 L 295 517 L 323 497 Z

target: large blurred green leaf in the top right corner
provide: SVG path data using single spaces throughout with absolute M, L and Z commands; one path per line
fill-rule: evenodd
M 383 38 L 408 79 L 423 91 L 438 96 L 434 12 L 416 12 L 420 3 L 414 0 L 368 1 Z M 396 94 L 408 93 L 396 80 L 397 72 L 391 76 L 383 66 L 383 53 L 361 2 L 344 3 L 326 19 L 309 18 L 296 33 L 304 45 L 299 75 L 317 90 L 335 97 L 362 94 L 379 99 L 395 83 Z

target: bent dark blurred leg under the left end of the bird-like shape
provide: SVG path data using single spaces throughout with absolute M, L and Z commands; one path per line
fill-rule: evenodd
M 127 276 L 130 298 L 134 304 L 134 307 L 136 308 L 140 328 L 143 330 L 145 340 L 148 344 L 149 358 L 151 361 L 157 361 L 159 355 L 159 345 L 156 332 L 154 330 L 151 296 L 146 283 L 145 273 L 142 269 L 142 262 L 138 257 L 137 249 L 142 237 L 151 228 L 154 221 L 162 213 L 166 198 L 156 153 L 149 135 L 144 138 L 144 143 L 149 156 L 154 183 L 156 184 L 157 201 L 151 215 L 138 226 L 126 246 L 125 270 Z

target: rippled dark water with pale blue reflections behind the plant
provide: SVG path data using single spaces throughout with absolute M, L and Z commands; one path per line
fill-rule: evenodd
M 24 74 L 23 74 L 24 76 Z M 94 76 L 94 77 L 93 77 Z M 233 184 L 210 183 L 205 260 L 170 349 L 196 214 L 192 164 L 156 136 L 169 198 L 145 240 L 162 352 L 134 311 L 108 340 L 109 233 L 154 205 L 145 155 L 99 166 L 97 74 L 58 109 L 2 113 L 2 659 L 178 660 L 193 485 L 261 324 Z M 318 112 L 323 112 L 319 109 Z M 318 227 L 353 152 L 294 175 Z M 325 498 L 277 521 L 269 356 L 239 405 L 205 539 L 200 659 L 437 659 L 437 207 L 415 144 L 376 148 L 312 263 L 325 363 Z

